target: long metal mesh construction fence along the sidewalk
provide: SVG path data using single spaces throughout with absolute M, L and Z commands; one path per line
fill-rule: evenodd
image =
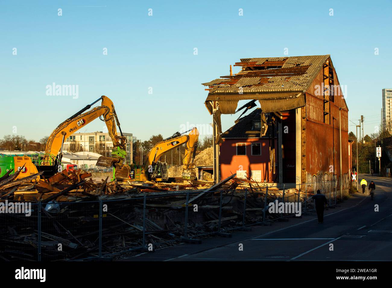
M 320 187 L 327 206 L 336 205 L 336 181 L 305 184 Z M 0 259 L 125 258 L 314 211 L 311 199 L 316 189 L 307 188 L 311 190 L 307 192 L 301 191 L 300 185 L 291 187 L 185 190 L 100 201 L 31 203 L 30 215 L 0 214 Z

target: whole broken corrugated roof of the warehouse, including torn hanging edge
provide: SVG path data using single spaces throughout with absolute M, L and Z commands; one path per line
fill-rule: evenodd
M 330 55 L 243 58 L 237 74 L 221 76 L 209 86 L 205 105 L 212 114 L 218 101 L 221 114 L 234 114 L 238 101 L 259 100 L 263 113 L 305 106 L 305 91 Z

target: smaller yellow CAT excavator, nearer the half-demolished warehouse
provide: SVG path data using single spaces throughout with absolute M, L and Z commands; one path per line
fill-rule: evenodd
M 190 132 L 189 132 L 190 131 Z M 188 135 L 185 133 L 189 132 Z M 161 162 L 161 156 L 181 144 L 185 143 L 185 156 L 183 159 L 182 178 L 197 179 L 196 174 L 192 169 L 195 168 L 193 160 L 196 154 L 196 147 L 198 145 L 199 131 L 195 128 L 186 132 L 176 132 L 171 137 L 163 139 L 163 141 L 156 143 L 154 147 L 147 154 L 147 160 L 141 169 L 131 170 L 132 181 L 167 181 L 167 163 Z

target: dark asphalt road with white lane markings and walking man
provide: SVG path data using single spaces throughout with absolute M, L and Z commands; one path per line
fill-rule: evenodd
M 218 248 L 206 248 L 191 254 L 187 253 L 186 245 L 178 245 L 136 258 L 142 261 L 390 261 L 392 181 L 366 175 L 359 175 L 359 180 L 361 177 L 368 183 L 371 180 L 376 183 L 374 199 L 356 193 L 356 205 L 325 215 L 323 224 L 318 224 L 314 219 L 316 215 L 312 214 L 307 216 L 307 221 L 251 238 L 244 234 L 238 239 L 237 235 L 234 241 L 238 241 L 216 245 Z M 375 205 L 378 205 L 379 212 L 375 212 Z M 212 241 L 223 240 L 218 237 Z M 243 245 L 242 251 L 240 244 Z

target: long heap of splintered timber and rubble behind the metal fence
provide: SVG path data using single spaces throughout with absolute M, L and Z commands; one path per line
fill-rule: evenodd
M 38 181 L 33 180 L 39 175 L 15 179 L 15 174 L 0 178 L 0 201 L 31 201 L 33 207 L 29 217 L 2 215 L 0 258 L 3 260 L 36 260 L 38 246 L 43 260 L 97 257 L 100 247 L 102 255 L 121 252 L 119 257 L 125 257 L 134 253 L 129 250 L 143 246 L 143 230 L 145 243 L 155 248 L 175 245 L 185 237 L 187 192 L 188 238 L 218 231 L 221 194 L 221 230 L 263 221 L 264 214 L 266 219 L 279 217 L 264 211 L 265 207 L 268 209 L 264 203 L 265 188 L 234 175 L 216 185 L 203 186 L 201 181 L 120 185 L 108 183 L 107 178 L 96 183 L 89 179 L 91 174 L 80 171 L 64 171 Z M 247 187 L 245 207 L 243 187 Z M 279 197 L 278 189 L 269 188 L 267 203 Z M 198 206 L 197 212 L 194 204 Z M 102 211 L 100 205 L 107 205 L 107 210 Z

